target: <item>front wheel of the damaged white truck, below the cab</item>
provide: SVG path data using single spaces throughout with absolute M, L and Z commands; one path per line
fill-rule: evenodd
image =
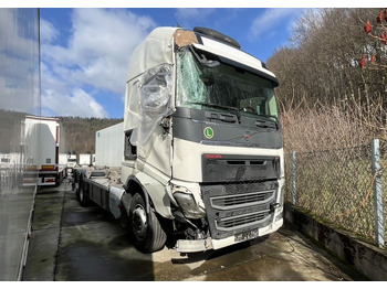
M 130 205 L 130 239 L 144 253 L 160 250 L 167 240 L 156 214 L 150 210 L 146 213 L 143 196 L 136 193 Z

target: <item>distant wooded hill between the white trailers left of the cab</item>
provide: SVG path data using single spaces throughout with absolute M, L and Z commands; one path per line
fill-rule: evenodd
M 65 148 L 73 153 L 95 152 L 95 131 L 124 121 L 109 118 L 60 117 L 65 130 Z

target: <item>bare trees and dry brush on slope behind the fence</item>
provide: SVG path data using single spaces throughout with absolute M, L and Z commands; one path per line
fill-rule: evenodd
M 386 139 L 387 9 L 313 9 L 268 61 L 287 151 Z

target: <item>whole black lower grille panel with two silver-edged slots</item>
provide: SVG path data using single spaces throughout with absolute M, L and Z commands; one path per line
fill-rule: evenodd
M 202 184 L 211 237 L 219 239 L 268 226 L 278 181 Z

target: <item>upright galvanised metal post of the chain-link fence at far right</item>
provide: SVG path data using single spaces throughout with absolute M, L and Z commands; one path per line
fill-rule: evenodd
M 380 171 L 380 146 L 378 139 L 373 139 L 373 175 Z M 383 188 L 381 175 L 377 174 L 374 182 L 374 206 L 375 206 L 375 235 L 376 245 L 378 247 L 385 246 L 385 226 L 383 221 Z

